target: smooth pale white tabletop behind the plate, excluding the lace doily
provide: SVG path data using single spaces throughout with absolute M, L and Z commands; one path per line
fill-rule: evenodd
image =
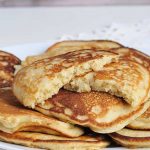
M 1 8 L 0 47 L 45 42 L 113 22 L 135 23 L 149 14 L 150 6 Z

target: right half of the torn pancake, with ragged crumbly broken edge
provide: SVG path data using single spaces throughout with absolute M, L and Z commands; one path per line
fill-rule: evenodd
M 150 92 L 150 72 L 139 63 L 120 60 L 106 64 L 101 71 L 73 78 L 65 89 L 77 92 L 104 91 L 123 97 L 137 107 L 147 101 Z

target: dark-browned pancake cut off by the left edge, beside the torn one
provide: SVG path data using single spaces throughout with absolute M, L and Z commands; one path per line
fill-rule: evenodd
M 0 50 L 0 88 L 12 85 L 15 72 L 14 66 L 19 64 L 19 58 Z

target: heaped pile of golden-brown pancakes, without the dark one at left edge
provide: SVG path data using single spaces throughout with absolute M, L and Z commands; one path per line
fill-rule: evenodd
M 64 41 L 17 68 L 12 88 L 0 91 L 2 141 L 99 149 L 110 136 L 150 147 L 148 55 L 113 41 Z

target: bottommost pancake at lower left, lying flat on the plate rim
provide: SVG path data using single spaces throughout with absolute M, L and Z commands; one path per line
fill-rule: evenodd
M 102 135 L 84 135 L 77 138 L 66 138 L 31 132 L 18 132 L 14 134 L 0 132 L 0 140 L 50 150 L 99 150 L 110 144 Z

